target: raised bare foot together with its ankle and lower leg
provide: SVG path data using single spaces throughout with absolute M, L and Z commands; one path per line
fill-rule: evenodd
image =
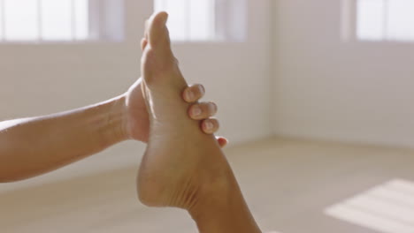
M 137 178 L 138 195 L 150 207 L 188 210 L 202 233 L 261 232 L 216 139 L 186 117 L 180 93 L 186 80 L 173 56 L 167 14 L 147 24 L 142 93 L 149 109 L 149 143 Z

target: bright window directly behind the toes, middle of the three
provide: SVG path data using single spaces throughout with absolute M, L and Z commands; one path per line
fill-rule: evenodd
M 173 41 L 243 41 L 246 0 L 155 0 Z

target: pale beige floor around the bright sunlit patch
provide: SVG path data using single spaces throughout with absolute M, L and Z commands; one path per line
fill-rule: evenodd
M 226 150 L 257 222 L 282 233 L 372 233 L 324 213 L 395 178 L 414 181 L 414 152 L 291 139 Z M 0 194 L 0 232 L 196 232 L 183 211 L 143 207 L 136 168 Z

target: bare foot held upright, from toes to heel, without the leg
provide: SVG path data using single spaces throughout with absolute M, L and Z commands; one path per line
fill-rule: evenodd
M 142 203 L 152 207 L 196 207 L 213 187 L 226 187 L 231 172 L 219 144 L 187 116 L 180 73 L 165 26 L 167 14 L 148 22 L 142 56 L 142 93 L 149 110 L 149 143 L 138 177 Z

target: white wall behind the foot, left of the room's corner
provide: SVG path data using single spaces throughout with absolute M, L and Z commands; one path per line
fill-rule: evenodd
M 272 133 L 270 1 L 248 1 L 246 42 L 174 45 L 189 82 L 203 83 L 206 100 L 219 104 L 219 134 L 232 144 Z M 0 45 L 0 119 L 78 108 L 125 92 L 140 75 L 139 41 L 152 1 L 126 0 L 126 11 L 122 43 Z M 138 164 L 143 147 L 126 142 L 35 180 Z

